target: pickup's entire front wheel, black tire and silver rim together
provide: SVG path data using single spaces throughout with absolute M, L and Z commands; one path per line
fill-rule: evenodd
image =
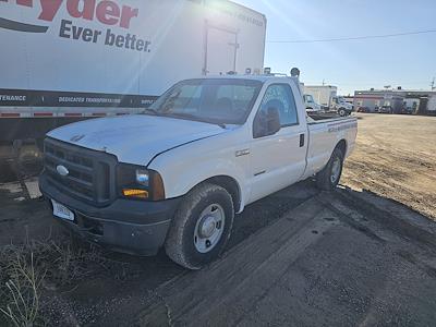
M 234 207 L 223 187 L 203 183 L 194 187 L 177 210 L 165 249 L 187 269 L 199 269 L 216 259 L 230 238 Z

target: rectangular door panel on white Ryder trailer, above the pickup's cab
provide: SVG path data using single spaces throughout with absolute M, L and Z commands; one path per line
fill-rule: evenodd
M 237 71 L 238 33 L 207 26 L 204 74 L 226 74 Z

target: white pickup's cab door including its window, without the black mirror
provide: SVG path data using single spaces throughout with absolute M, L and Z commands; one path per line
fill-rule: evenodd
M 253 136 L 251 146 L 252 187 L 250 202 L 299 181 L 306 166 L 307 130 L 299 117 L 290 84 L 271 84 L 265 92 L 253 124 L 269 107 L 279 111 L 280 131 L 274 135 Z

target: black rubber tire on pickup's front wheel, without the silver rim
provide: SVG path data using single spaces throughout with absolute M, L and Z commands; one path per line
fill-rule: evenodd
M 217 204 L 223 211 L 223 230 L 214 247 L 202 253 L 194 244 L 194 234 L 201 214 L 210 205 Z M 215 261 L 225 250 L 233 228 L 233 201 L 226 189 L 203 183 L 187 193 L 177 210 L 170 227 L 165 250 L 177 264 L 187 269 L 201 269 Z

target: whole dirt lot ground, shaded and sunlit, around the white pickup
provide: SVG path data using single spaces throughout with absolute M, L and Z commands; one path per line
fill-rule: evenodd
M 320 193 L 305 181 L 249 206 L 223 257 L 202 271 L 165 253 L 71 243 L 20 185 L 0 187 L 0 245 L 41 240 L 24 251 L 46 272 L 38 323 L 47 325 L 432 326 L 436 223 L 417 211 L 435 218 L 436 120 L 359 118 L 342 180 L 353 189 Z

